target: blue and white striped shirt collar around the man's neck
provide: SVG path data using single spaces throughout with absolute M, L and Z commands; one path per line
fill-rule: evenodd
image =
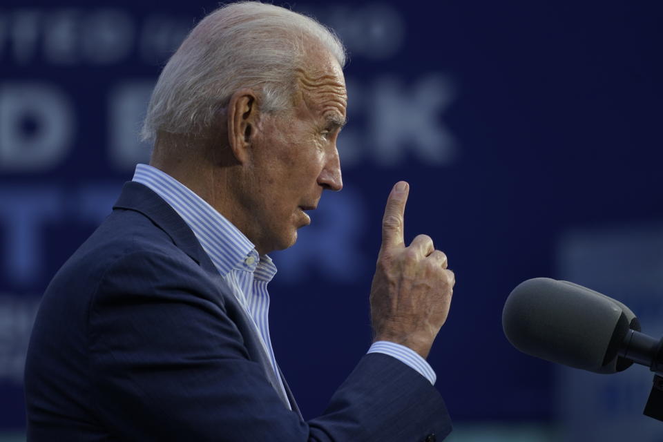
M 269 282 L 276 274 L 269 256 L 258 256 L 256 246 L 240 229 L 171 175 L 137 164 L 133 181 L 155 191 L 182 217 L 221 276 L 237 269 L 251 271 L 256 279 Z

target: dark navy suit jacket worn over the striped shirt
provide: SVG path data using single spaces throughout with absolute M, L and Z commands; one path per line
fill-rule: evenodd
M 439 393 L 391 356 L 364 356 L 308 422 L 275 383 L 191 229 L 128 182 L 41 301 L 26 360 L 28 441 L 407 442 L 451 430 Z

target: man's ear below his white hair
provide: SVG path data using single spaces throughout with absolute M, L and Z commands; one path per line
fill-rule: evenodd
M 236 159 L 244 163 L 248 159 L 251 140 L 260 119 L 256 93 L 240 89 L 228 103 L 228 144 Z

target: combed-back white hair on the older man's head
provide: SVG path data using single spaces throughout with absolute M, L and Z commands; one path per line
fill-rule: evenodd
M 240 88 L 259 94 L 262 112 L 291 108 L 296 69 L 311 39 L 345 66 L 343 44 L 315 19 L 258 1 L 218 8 L 191 30 L 164 67 L 141 139 L 155 140 L 160 131 L 204 133 Z

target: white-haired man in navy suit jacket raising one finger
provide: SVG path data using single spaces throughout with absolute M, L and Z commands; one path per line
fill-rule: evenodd
M 262 3 L 203 19 L 164 68 L 155 139 L 113 213 L 53 278 L 26 361 L 30 441 L 434 441 L 426 363 L 454 285 L 427 236 L 403 244 L 392 189 L 370 294 L 374 343 L 305 422 L 269 338 L 267 253 L 343 186 L 343 46 Z

